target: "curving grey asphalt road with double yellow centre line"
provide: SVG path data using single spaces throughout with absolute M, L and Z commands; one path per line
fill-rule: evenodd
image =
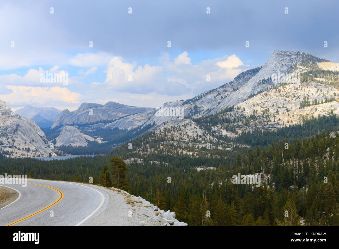
M 27 179 L 26 187 L 0 185 L 19 193 L 16 201 L 0 209 L 1 226 L 85 225 L 108 203 L 106 193 L 85 184 Z

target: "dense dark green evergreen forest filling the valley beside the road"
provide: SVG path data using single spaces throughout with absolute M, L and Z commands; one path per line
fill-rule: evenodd
M 275 131 L 255 130 L 233 139 L 249 147 L 202 147 L 193 155 L 182 149 L 196 151 L 194 144 L 163 147 L 166 137 L 149 132 L 131 141 L 132 149 L 126 142 L 105 156 L 0 159 L 0 172 L 31 171 L 35 178 L 81 182 L 92 176 L 98 183 L 111 158 L 140 158 L 143 163 L 128 165 L 129 191 L 175 211 L 189 225 L 281 225 L 288 222 L 286 208 L 296 210 L 297 218 L 287 224 L 297 225 L 301 219 L 306 225 L 339 225 L 339 138 L 337 133 L 330 136 L 339 129 L 338 122 L 335 115 L 319 116 Z M 217 169 L 198 172 L 195 167 Z M 263 183 L 234 185 L 232 176 L 238 173 L 259 173 Z

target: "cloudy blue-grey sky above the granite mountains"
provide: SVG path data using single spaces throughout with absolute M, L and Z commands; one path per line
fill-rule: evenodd
M 155 108 L 230 82 L 274 50 L 339 62 L 338 9 L 331 0 L 2 0 L 0 99 L 14 109 Z

